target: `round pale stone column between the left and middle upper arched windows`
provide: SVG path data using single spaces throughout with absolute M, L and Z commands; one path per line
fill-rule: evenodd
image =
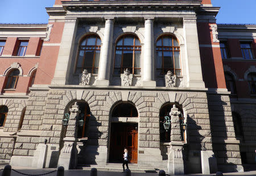
M 96 85 L 108 86 L 112 53 L 114 19 L 106 19 L 104 39 L 101 47 L 100 64 Z

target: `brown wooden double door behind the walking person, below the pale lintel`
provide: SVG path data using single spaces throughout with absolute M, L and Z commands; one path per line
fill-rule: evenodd
M 110 134 L 109 162 L 122 162 L 123 150 L 128 149 L 129 161 L 138 161 L 138 124 L 112 123 Z

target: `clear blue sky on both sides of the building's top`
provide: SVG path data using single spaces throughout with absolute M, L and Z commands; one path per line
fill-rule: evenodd
M 47 23 L 45 7 L 55 0 L 0 0 L 0 23 Z M 217 23 L 256 24 L 256 0 L 212 0 L 221 7 Z

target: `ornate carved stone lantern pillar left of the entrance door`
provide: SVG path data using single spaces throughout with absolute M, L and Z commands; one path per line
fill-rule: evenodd
M 65 170 L 75 169 L 77 165 L 77 116 L 80 113 L 77 102 L 69 109 L 70 116 L 66 137 L 63 139 L 64 146 L 60 151 L 58 166 L 63 166 Z

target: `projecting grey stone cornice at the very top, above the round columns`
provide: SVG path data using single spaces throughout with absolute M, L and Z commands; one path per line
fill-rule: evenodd
M 186 1 L 62 1 L 64 10 L 82 11 L 82 10 L 104 10 L 104 9 L 198 9 L 201 1 L 186 0 Z

